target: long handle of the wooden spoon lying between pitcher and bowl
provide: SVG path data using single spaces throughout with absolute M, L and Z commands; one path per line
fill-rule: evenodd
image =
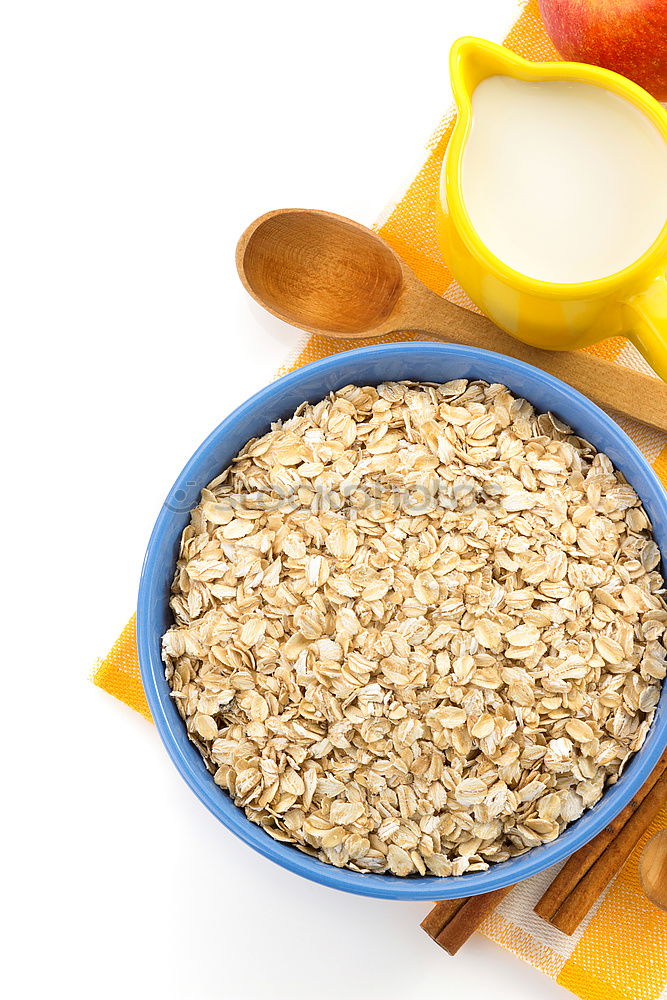
M 422 289 L 423 285 L 420 292 Z M 480 347 L 526 361 L 567 382 L 598 406 L 667 431 L 667 384 L 662 379 L 631 368 L 619 368 L 581 351 L 543 351 L 531 347 L 504 333 L 486 316 L 462 309 L 431 291 L 410 298 L 407 315 L 402 317 L 405 325 L 396 329 L 428 333 L 450 343 Z

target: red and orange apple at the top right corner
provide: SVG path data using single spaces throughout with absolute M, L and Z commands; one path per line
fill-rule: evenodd
M 564 59 L 613 69 L 667 101 L 667 0 L 539 0 Z

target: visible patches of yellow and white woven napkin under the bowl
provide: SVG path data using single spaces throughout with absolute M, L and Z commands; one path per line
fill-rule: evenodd
M 523 8 L 505 44 L 528 59 L 558 58 L 544 32 L 536 0 L 530 0 Z M 422 281 L 459 305 L 474 308 L 442 261 L 434 228 L 438 176 L 453 121 L 454 115 L 450 112 L 429 144 L 423 167 L 400 201 L 385 213 L 379 231 Z M 423 337 L 394 335 L 387 338 L 394 341 L 417 339 Z M 346 341 L 309 337 L 290 369 L 348 350 L 349 346 Z M 589 350 L 615 361 L 619 369 L 625 366 L 648 371 L 643 358 L 621 338 L 608 340 Z M 622 377 L 621 370 L 619 377 Z M 623 428 L 667 485 L 667 435 L 630 420 L 623 421 Z M 133 616 L 109 655 L 99 664 L 94 680 L 105 691 L 150 719 L 139 675 L 135 625 Z M 667 914 L 652 906 L 641 892 L 637 861 L 648 837 L 666 827 L 667 811 L 663 810 L 603 899 L 572 937 L 561 934 L 533 913 L 533 906 L 553 878 L 554 869 L 516 886 L 487 918 L 482 932 L 583 1000 L 657 1000 L 664 997 Z

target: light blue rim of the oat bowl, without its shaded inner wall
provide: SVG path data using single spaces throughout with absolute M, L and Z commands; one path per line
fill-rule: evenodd
M 213 444 L 224 436 L 238 421 L 243 420 L 246 415 L 254 413 L 258 407 L 267 408 L 267 405 L 277 404 L 281 392 L 286 389 L 298 386 L 301 381 L 313 375 L 320 373 L 323 375 L 331 374 L 341 361 L 348 360 L 351 356 L 354 356 L 361 365 L 362 361 L 382 360 L 383 355 L 400 356 L 401 354 L 405 354 L 406 360 L 408 360 L 409 355 L 417 351 L 421 351 L 422 353 L 432 352 L 434 358 L 436 355 L 444 356 L 445 358 L 447 356 L 456 357 L 463 361 L 469 361 L 482 370 L 485 363 L 498 364 L 500 362 L 509 376 L 516 376 L 514 379 L 515 382 L 520 380 L 522 373 L 529 375 L 531 379 L 537 377 L 546 386 L 560 393 L 566 405 L 572 403 L 576 404 L 579 409 L 583 407 L 584 411 L 602 423 L 603 428 L 611 434 L 628 455 L 628 458 L 634 460 L 635 464 L 639 465 L 639 471 L 648 479 L 649 484 L 652 485 L 653 491 L 656 494 L 656 502 L 662 506 L 662 513 L 667 520 L 667 495 L 665 495 L 660 480 L 636 445 L 622 428 L 611 417 L 607 416 L 603 410 L 576 389 L 573 389 L 565 382 L 561 382 L 560 379 L 514 358 L 457 344 L 434 343 L 432 341 L 399 341 L 397 343 L 371 345 L 327 356 L 326 358 L 303 365 L 289 374 L 274 380 L 236 407 L 204 439 L 186 462 L 160 509 L 143 561 L 137 604 L 139 664 L 151 716 L 172 762 L 200 802 L 240 840 L 265 858 L 274 861 L 288 871 L 294 872 L 310 881 L 318 882 L 321 885 L 344 892 L 379 899 L 397 900 L 454 899 L 463 896 L 478 895 L 524 881 L 530 876 L 564 860 L 595 837 L 630 801 L 653 770 L 664 747 L 667 745 L 667 711 L 659 705 L 646 741 L 632 757 L 621 779 L 605 790 L 602 798 L 592 809 L 586 810 L 579 819 L 572 822 L 562 834 L 549 844 L 531 848 L 525 854 L 510 858 L 507 861 L 492 864 L 485 871 L 460 876 L 438 877 L 434 875 L 415 875 L 401 878 L 390 874 L 358 873 L 348 868 L 337 868 L 320 861 L 318 858 L 303 853 L 293 845 L 274 840 L 260 826 L 247 819 L 242 808 L 234 805 L 228 793 L 213 783 L 212 775 L 206 770 L 199 752 L 194 748 L 193 744 L 189 743 L 183 721 L 178 714 L 173 700 L 169 697 L 168 686 L 164 677 L 164 668 L 160 657 L 159 641 L 156 646 L 152 628 L 152 610 L 155 604 L 152 585 L 156 575 L 155 569 L 159 561 L 159 550 L 163 546 L 165 539 L 170 537 L 170 521 L 174 517 L 173 509 L 168 506 L 169 497 L 174 495 L 175 491 L 179 489 L 180 484 L 187 484 L 191 481 L 193 470 Z M 483 376 L 480 375 L 477 377 L 481 378 Z M 364 380 L 362 379 L 362 381 Z M 371 384 L 372 382 L 372 379 L 370 381 L 366 380 L 366 384 Z M 379 383 L 375 382 L 374 384 Z M 326 395 L 328 391 L 325 389 L 323 395 Z M 518 394 L 516 388 L 510 387 L 510 391 L 515 395 Z M 539 407 L 537 408 L 539 411 Z M 566 417 L 566 414 L 564 414 L 564 417 Z M 274 417 L 268 412 L 267 422 L 271 419 L 274 419 Z M 642 503 L 644 503 L 644 496 L 642 494 L 639 494 L 639 496 Z M 178 535 L 180 535 L 180 530 L 182 529 L 179 529 Z M 662 550 L 661 555 L 663 555 Z M 162 693 L 160 688 L 162 688 Z M 663 706 L 666 696 L 667 688 L 663 688 L 661 695 Z M 659 723 L 659 725 L 656 726 L 656 723 Z M 188 758 L 184 749 L 184 746 L 188 745 L 195 750 L 196 760 L 192 756 L 190 756 L 190 759 Z M 223 808 L 225 803 L 231 804 L 231 809 L 229 806 Z

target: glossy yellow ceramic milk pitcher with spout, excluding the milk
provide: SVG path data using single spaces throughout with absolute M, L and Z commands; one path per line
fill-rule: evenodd
M 525 343 L 571 350 L 622 334 L 667 380 L 667 220 L 652 246 L 629 267 L 595 281 L 555 284 L 520 274 L 494 256 L 472 226 L 461 194 L 472 93 L 489 76 L 576 80 L 605 87 L 643 111 L 665 142 L 667 113 L 645 90 L 617 73 L 583 63 L 527 62 L 478 38 L 459 39 L 450 62 L 458 118 L 442 166 L 436 222 L 456 279 L 482 312 Z

